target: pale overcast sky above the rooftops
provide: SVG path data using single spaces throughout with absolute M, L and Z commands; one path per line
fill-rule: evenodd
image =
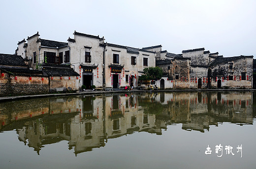
M 202 48 L 256 58 L 256 0 L 2 0 L 0 53 L 18 41 L 67 42 L 74 30 L 135 48 L 162 45 L 180 54 Z

